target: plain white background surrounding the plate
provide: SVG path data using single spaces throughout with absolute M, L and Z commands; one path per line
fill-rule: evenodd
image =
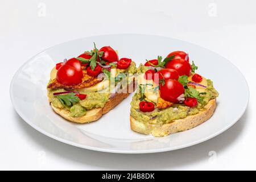
M 1 0 L 0 169 L 256 169 L 255 7 L 253 0 Z M 30 57 L 68 40 L 118 33 L 168 36 L 226 57 L 249 84 L 246 113 L 236 125 L 207 142 L 177 151 L 139 155 L 106 154 L 69 146 L 40 134 L 16 114 L 9 85 L 14 73 Z M 236 98 L 230 102 L 236 104 Z

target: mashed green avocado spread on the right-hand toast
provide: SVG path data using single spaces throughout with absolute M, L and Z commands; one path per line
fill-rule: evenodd
M 139 69 L 144 69 L 144 66 L 140 65 Z M 139 72 L 139 71 L 138 71 Z M 202 95 L 204 97 L 205 104 L 209 102 L 209 100 L 218 97 L 218 92 L 213 87 L 213 82 L 211 80 L 207 80 L 207 89 L 205 89 L 205 94 Z M 187 107 L 184 104 L 175 104 L 172 107 L 168 107 L 167 109 L 158 109 L 155 107 L 155 110 L 152 112 L 143 113 L 139 110 L 139 94 L 136 93 L 133 96 L 133 100 L 131 101 L 131 116 L 137 119 L 139 122 L 147 123 L 158 123 L 159 125 L 163 125 L 164 123 L 170 123 L 174 119 L 185 118 L 187 115 L 193 115 L 199 113 L 200 110 L 204 110 L 204 105 L 198 104 L 197 107 Z

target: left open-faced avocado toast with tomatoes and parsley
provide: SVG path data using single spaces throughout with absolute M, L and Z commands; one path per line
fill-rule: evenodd
M 47 85 L 53 110 L 68 121 L 88 123 L 117 106 L 135 89 L 136 64 L 110 46 L 56 64 Z M 111 84 L 112 83 L 112 84 Z

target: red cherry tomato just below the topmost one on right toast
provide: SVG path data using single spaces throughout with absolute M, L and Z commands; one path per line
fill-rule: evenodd
M 188 61 L 184 59 L 173 59 L 166 64 L 166 68 L 175 69 L 180 76 L 187 75 L 191 73 L 191 65 Z

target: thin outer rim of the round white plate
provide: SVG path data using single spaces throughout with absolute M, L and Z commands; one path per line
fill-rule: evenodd
M 79 144 L 79 143 L 76 143 L 76 142 L 72 142 L 70 140 L 67 140 L 67 139 L 63 139 L 63 138 L 60 138 L 60 137 L 57 137 L 56 135 L 53 135 L 51 133 L 48 133 L 47 131 L 44 131 L 43 129 L 41 129 L 40 127 L 36 126 L 34 123 L 32 122 L 29 122 L 29 119 L 26 118 L 26 116 L 22 113 L 22 111 L 20 111 L 18 109 L 18 107 L 16 106 L 15 104 L 15 101 L 14 101 L 14 96 L 13 96 L 13 85 L 14 85 L 14 80 L 16 78 L 16 76 L 18 76 L 18 74 L 22 71 L 22 68 L 24 66 L 27 65 L 27 63 L 29 63 L 32 59 L 34 59 L 34 57 L 40 55 L 41 53 L 47 51 L 48 49 L 51 49 L 53 47 L 56 47 L 56 46 L 59 46 L 61 44 L 64 44 L 64 43 L 69 43 L 69 42 L 73 42 L 73 41 L 76 41 L 76 40 L 80 40 L 80 39 L 86 39 L 86 38 L 94 38 L 94 37 L 98 37 L 98 36 L 125 36 L 125 35 L 140 35 L 140 36 L 155 36 L 155 37 L 160 37 L 160 38 L 167 38 L 167 39 L 174 39 L 174 40 L 178 40 L 180 42 L 184 42 L 184 43 L 189 43 L 193 46 L 197 46 L 197 47 L 200 47 L 200 48 L 203 48 L 203 49 L 207 49 L 208 51 L 214 53 L 214 54 L 217 54 L 218 56 L 221 56 L 222 58 L 224 58 L 226 61 L 228 61 L 229 64 L 232 64 L 233 67 L 235 67 L 237 69 L 238 72 L 240 72 L 243 80 L 245 81 L 245 84 L 246 84 L 246 90 L 247 90 L 247 93 L 248 93 L 248 97 L 247 97 L 247 101 L 246 101 L 246 105 L 245 107 L 243 108 L 241 114 L 236 118 L 234 119 L 234 122 L 230 123 L 230 125 L 222 128 L 222 130 L 218 131 L 217 133 L 214 133 L 212 135 L 209 135 L 208 137 L 206 138 L 203 138 L 203 139 L 200 139 L 200 140 L 196 140 L 195 142 L 191 142 L 191 143 L 188 143 L 188 144 L 184 144 L 184 145 L 181 145 L 181 146 L 177 146 L 177 147 L 166 147 L 166 148 L 156 148 L 156 149 L 151 149 L 151 150 L 115 150 L 115 149 L 107 149 L 107 148 L 100 148 L 100 147 L 92 147 L 92 146 L 85 146 L 83 144 Z M 249 104 L 249 100 L 250 100 L 250 90 L 249 90 L 249 85 L 247 83 L 247 80 L 245 78 L 245 76 L 243 75 L 243 73 L 240 71 L 240 69 L 238 69 L 236 67 L 236 65 L 234 65 L 231 61 L 229 61 L 228 59 L 226 59 L 224 56 L 222 55 L 219 55 L 218 53 L 214 52 L 214 51 L 211 51 L 210 49 L 208 48 L 205 48 L 205 47 L 202 47 L 202 46 L 199 46 L 197 44 L 194 44 L 194 43 L 191 43 L 191 42 L 187 42 L 187 41 L 184 41 L 184 40 L 180 40 L 180 39 L 175 39 L 175 38 L 171 38 L 171 37 L 167 37 L 167 36 L 160 36 L 160 35 L 152 35 L 152 34 L 103 34 L 103 35 L 96 35 L 96 36 L 87 36 L 87 37 L 82 37 L 82 38 L 77 38 L 77 39 L 72 39 L 72 40 L 68 40 L 66 42 L 62 42 L 62 43 L 58 43 L 58 44 L 55 44 L 51 47 L 48 47 L 46 49 L 44 49 L 43 51 L 40 51 L 39 53 L 36 53 L 36 55 L 30 57 L 30 59 L 28 59 L 27 61 L 25 61 L 25 63 L 23 63 L 19 68 L 18 70 L 15 72 L 13 78 L 11 79 L 11 82 L 10 82 L 10 89 L 9 89 L 9 94 L 10 94 L 10 98 L 11 98 L 11 103 L 13 104 L 14 106 L 14 109 L 16 111 L 16 113 L 23 119 L 23 121 L 25 121 L 28 125 L 30 125 L 32 128 L 34 128 L 35 130 L 39 131 L 40 133 L 46 135 L 47 137 L 49 138 L 52 138 L 52 139 L 55 139 L 59 142 L 62 142 L 62 143 L 65 143 L 65 144 L 69 144 L 71 146 L 75 146 L 75 147 L 79 147 L 79 148 L 84 148 L 84 149 L 87 149 L 87 150 L 92 150 L 92 151 L 99 151 L 99 152 L 109 152 L 109 153 L 114 153 L 114 154 L 151 154 L 151 153 L 158 153 L 158 152 L 166 152 L 166 151 L 173 151 L 173 150 L 179 150 L 181 148 L 187 148 L 189 146 L 193 146 L 193 145 L 196 145 L 196 144 L 199 144 L 199 143 L 202 143 L 202 142 L 205 142 L 206 140 L 209 140 L 211 138 L 214 138 L 216 137 L 217 135 L 220 135 L 221 133 L 223 133 L 224 131 L 228 130 L 230 127 L 232 127 L 235 123 L 237 123 L 241 117 L 243 116 L 243 114 L 245 114 L 245 111 L 247 109 L 247 106 Z M 168 137 L 168 136 L 166 136 Z

